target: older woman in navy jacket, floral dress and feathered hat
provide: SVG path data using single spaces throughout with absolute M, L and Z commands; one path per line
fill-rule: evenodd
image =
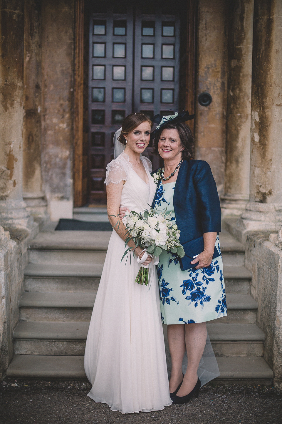
M 177 114 L 164 118 L 154 138 L 164 167 L 153 174 L 159 180 L 153 206 L 175 219 L 185 256 L 163 252 L 157 272 L 172 360 L 170 395 L 173 403 L 186 403 L 201 386 L 197 369 L 206 343 L 206 321 L 227 315 L 218 237 L 221 211 L 210 166 L 193 159 L 189 126 Z M 182 117 L 187 119 L 189 114 Z M 183 377 L 185 349 L 188 366 Z

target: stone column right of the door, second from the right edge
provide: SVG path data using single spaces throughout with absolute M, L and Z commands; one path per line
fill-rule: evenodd
M 249 201 L 254 0 L 228 4 L 225 192 L 222 216 L 241 216 Z

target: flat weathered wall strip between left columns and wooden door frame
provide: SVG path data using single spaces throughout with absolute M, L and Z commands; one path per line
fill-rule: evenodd
M 74 0 L 42 5 L 42 176 L 52 220 L 72 218 Z

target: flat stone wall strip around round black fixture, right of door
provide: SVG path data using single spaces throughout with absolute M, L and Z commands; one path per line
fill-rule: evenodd
M 219 192 L 225 171 L 227 36 L 225 0 L 199 0 L 197 96 L 209 92 L 212 102 L 195 117 L 196 157 L 211 165 Z

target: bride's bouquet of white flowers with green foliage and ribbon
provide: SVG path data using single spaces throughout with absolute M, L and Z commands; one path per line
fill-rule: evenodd
M 136 247 L 144 248 L 147 254 L 151 254 L 156 258 L 155 264 L 159 262 L 159 255 L 162 250 L 176 253 L 181 258 L 185 254 L 183 246 L 178 241 L 180 231 L 175 222 L 173 223 L 170 219 L 170 214 L 166 215 L 163 212 L 158 215 L 153 208 L 150 211 L 145 210 L 143 213 L 131 211 L 126 215 L 126 229 L 128 237 L 125 240 L 125 247 L 129 240 L 133 238 Z M 121 260 L 130 250 L 131 248 L 126 249 Z M 135 282 L 148 285 L 148 265 L 141 264 Z

